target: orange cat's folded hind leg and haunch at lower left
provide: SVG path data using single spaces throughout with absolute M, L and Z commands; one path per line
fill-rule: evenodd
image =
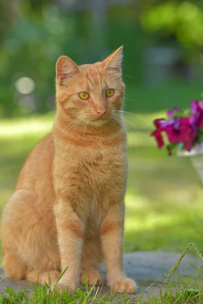
M 54 222 L 51 214 L 43 217 L 36 206 L 35 193 L 28 190 L 16 191 L 6 204 L 2 216 L 1 237 L 3 266 L 12 279 L 27 278 L 47 282 L 60 269 Z M 50 218 L 50 223 L 46 218 Z M 32 272 L 28 270 L 33 270 Z

